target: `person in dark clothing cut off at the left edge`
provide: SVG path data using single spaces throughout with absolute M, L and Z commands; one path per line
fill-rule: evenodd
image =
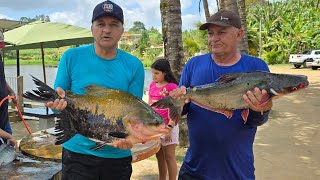
M 0 30 L 0 101 L 7 97 L 8 95 L 16 97 L 15 92 L 12 90 L 12 88 L 9 86 L 9 84 L 6 81 L 5 73 L 4 73 L 4 64 L 2 60 L 2 49 L 5 48 L 4 44 L 4 36 L 2 31 Z M 4 138 L 4 142 L 7 142 L 9 140 L 10 144 L 14 144 L 16 150 L 18 150 L 17 142 L 12 137 L 12 129 L 10 126 L 10 121 L 8 117 L 8 100 L 5 100 L 2 105 L 0 106 L 0 129 L 3 130 L 0 135 L 0 137 Z M 10 135 L 10 136 L 9 136 Z M 2 142 L 0 141 L 0 144 Z

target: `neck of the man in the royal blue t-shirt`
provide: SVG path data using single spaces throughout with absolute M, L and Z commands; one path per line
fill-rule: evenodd
M 220 66 L 231 66 L 240 60 L 241 54 L 238 52 L 226 55 L 211 54 L 211 58 Z

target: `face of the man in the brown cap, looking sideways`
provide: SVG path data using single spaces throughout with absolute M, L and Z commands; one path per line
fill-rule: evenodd
M 232 26 L 210 25 L 208 28 L 208 46 L 214 55 L 237 52 L 242 38 L 242 30 Z

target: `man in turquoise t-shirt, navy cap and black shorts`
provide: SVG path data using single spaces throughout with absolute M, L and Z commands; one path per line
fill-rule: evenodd
M 129 92 L 142 98 L 144 69 L 135 56 L 118 49 L 123 28 L 123 11 L 111 1 L 98 4 L 93 10 L 91 31 L 94 44 L 69 49 L 59 64 L 55 88 L 64 98 L 65 91 L 84 94 L 84 87 L 95 84 Z M 64 99 L 46 106 L 63 110 Z M 62 144 L 62 179 L 125 179 L 132 174 L 132 144 L 123 139 L 114 146 L 98 150 L 96 143 L 76 134 Z

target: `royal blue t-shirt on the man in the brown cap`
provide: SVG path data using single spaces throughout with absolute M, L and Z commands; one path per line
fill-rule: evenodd
M 219 66 L 211 54 L 205 54 L 187 62 L 179 86 L 209 84 L 224 74 L 255 70 L 269 71 L 269 68 L 261 59 L 248 55 L 241 55 L 234 65 Z M 266 122 L 268 113 L 250 111 L 247 124 L 251 126 L 248 126 L 243 124 L 241 112 L 236 110 L 228 119 L 191 103 L 187 116 L 190 147 L 182 168 L 201 179 L 255 179 L 254 124 Z

